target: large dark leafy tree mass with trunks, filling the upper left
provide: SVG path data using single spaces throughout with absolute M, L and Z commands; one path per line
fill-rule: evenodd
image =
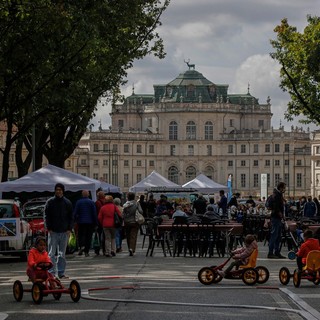
M 12 144 L 31 150 L 32 125 L 37 167 L 42 155 L 63 167 L 99 97 L 118 92 L 135 59 L 164 57 L 156 29 L 168 5 L 169 0 L 0 0 L 0 121 L 8 128 L 2 181 Z M 30 157 L 16 151 L 16 161 L 19 175 L 27 173 Z

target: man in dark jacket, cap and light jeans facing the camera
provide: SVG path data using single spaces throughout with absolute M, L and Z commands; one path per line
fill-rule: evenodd
M 48 230 L 48 253 L 53 263 L 49 270 L 60 279 L 67 278 L 66 249 L 73 229 L 72 203 L 64 196 L 64 185 L 57 183 L 55 195 L 45 205 L 45 222 Z

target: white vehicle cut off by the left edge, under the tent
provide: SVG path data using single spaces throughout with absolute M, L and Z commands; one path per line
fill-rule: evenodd
M 20 203 L 15 199 L 0 199 L 0 254 L 27 259 L 32 231 L 24 219 Z

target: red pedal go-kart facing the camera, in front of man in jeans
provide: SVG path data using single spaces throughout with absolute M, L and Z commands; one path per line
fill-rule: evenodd
M 52 263 L 41 262 L 37 266 L 37 270 L 49 270 L 52 267 Z M 22 282 L 16 280 L 13 284 L 13 296 L 16 301 L 20 302 L 23 298 L 24 292 L 31 292 L 34 303 L 40 304 L 43 297 L 52 294 L 55 300 L 60 300 L 63 293 L 70 294 L 71 299 L 74 302 L 78 302 L 81 297 L 81 288 L 76 280 L 70 282 L 69 288 L 65 288 L 61 281 L 55 277 L 50 276 L 47 271 L 47 277 L 45 280 L 36 279 L 33 282 L 31 289 L 24 289 Z

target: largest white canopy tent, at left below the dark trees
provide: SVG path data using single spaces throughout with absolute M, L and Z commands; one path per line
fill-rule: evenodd
M 17 180 L 0 183 L 0 192 L 53 192 L 56 183 L 62 183 L 65 191 L 89 190 L 94 201 L 96 190 L 103 189 L 103 183 L 98 180 L 48 164 Z

